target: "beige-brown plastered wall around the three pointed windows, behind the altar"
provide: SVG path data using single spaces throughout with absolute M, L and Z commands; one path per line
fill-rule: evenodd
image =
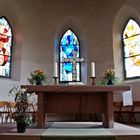
M 122 76 L 120 31 L 131 13 L 125 10 L 126 14 L 119 14 L 122 7 L 133 9 L 132 15 L 139 21 L 139 0 L 1 0 L 0 16 L 8 18 L 14 33 L 12 78 L 0 79 L 1 100 L 9 100 L 7 94 L 12 86 L 27 84 L 27 77 L 34 69 L 43 69 L 52 83 L 59 39 L 68 27 L 77 33 L 84 50 L 84 82 L 90 84 L 92 61 L 97 83 L 109 67 L 115 67 L 117 75 Z M 121 16 L 125 18 L 119 18 Z M 125 81 L 133 86 L 134 100 L 140 100 L 139 82 Z M 114 99 L 121 100 L 121 96 Z

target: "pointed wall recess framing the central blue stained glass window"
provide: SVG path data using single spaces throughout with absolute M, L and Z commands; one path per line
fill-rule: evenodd
M 80 49 L 80 57 L 85 58 L 84 63 L 81 63 L 81 75 L 79 81 L 87 83 L 87 37 L 84 28 L 79 24 L 79 22 L 73 17 L 66 17 L 57 28 L 54 40 L 54 62 L 59 63 L 59 52 L 60 52 L 60 40 L 67 30 L 71 30 L 78 39 Z M 60 72 L 59 72 L 60 73 Z M 86 73 L 86 74 L 85 74 Z M 60 77 L 59 77 L 60 78 Z M 59 79 L 60 81 L 60 79 Z

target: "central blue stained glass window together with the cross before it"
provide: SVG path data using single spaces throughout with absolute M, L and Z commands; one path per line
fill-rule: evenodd
M 79 41 L 74 32 L 67 30 L 60 40 L 60 82 L 81 81 Z

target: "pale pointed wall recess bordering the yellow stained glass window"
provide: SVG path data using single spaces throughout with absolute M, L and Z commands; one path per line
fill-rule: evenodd
M 126 23 L 129 19 L 135 19 L 139 21 L 140 17 L 138 12 L 128 6 L 123 6 L 116 15 L 113 23 L 113 56 L 114 56 L 114 68 L 117 77 L 121 80 L 125 80 L 125 68 L 124 68 L 124 50 L 123 50 L 123 31 Z

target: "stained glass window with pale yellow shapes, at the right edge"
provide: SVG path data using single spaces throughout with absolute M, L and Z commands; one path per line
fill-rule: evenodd
M 140 27 L 130 19 L 123 31 L 125 78 L 140 77 Z

